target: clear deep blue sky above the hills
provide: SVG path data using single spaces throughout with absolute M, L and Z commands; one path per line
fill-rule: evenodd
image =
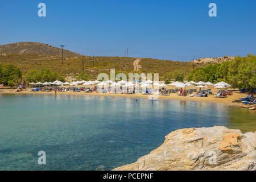
M 38 16 L 46 3 L 47 16 Z M 217 5 L 217 17 L 208 5 Z M 256 51 L 256 1 L 8 0 L 0 44 L 42 42 L 89 56 L 188 61 Z

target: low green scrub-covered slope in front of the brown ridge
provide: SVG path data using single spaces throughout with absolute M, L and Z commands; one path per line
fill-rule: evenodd
M 0 63 L 13 64 L 21 69 L 23 75 L 32 69 L 48 68 L 51 71 L 62 73 L 65 77 L 77 76 L 82 72 L 82 56 L 63 56 L 64 64 L 61 64 L 61 56 L 47 56 L 33 53 L 2 53 Z M 139 73 L 159 73 L 162 77 L 164 72 L 173 72 L 181 69 L 185 73 L 192 70 L 193 66 L 189 62 L 156 60 L 141 58 L 139 69 L 134 71 L 134 57 L 84 57 L 84 72 L 91 78 L 97 78 L 99 73 L 110 73 L 110 69 L 120 72 Z

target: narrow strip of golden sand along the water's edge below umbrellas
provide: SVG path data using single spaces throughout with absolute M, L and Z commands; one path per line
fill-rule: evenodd
M 55 95 L 55 92 L 31 92 L 31 91 L 22 91 L 22 92 L 14 92 L 12 89 L 3 89 L 3 91 L 7 92 L 0 92 L 0 95 L 6 94 L 48 94 L 48 95 Z M 105 97 L 129 97 L 129 98 L 146 98 L 150 99 L 150 97 L 155 97 L 154 95 L 144 95 L 144 94 L 118 94 L 118 93 L 86 93 L 86 92 L 57 92 L 57 95 L 72 95 L 72 96 L 105 96 Z M 189 96 L 178 96 L 176 93 L 171 93 L 170 96 L 158 96 L 157 100 L 180 100 L 180 101 L 196 101 L 196 102 L 208 102 L 214 104 L 224 104 L 228 106 L 239 106 L 242 107 L 243 104 L 239 101 L 240 97 L 246 97 L 246 93 L 238 93 L 234 92 L 232 96 L 227 96 L 225 98 L 215 98 L 214 94 L 209 95 L 208 97 L 189 97 Z M 150 99 L 151 100 L 151 99 Z M 253 105 L 251 105 L 253 107 Z

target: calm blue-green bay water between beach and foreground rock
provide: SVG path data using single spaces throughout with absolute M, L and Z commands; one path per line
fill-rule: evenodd
M 97 96 L 0 96 L 0 170 L 110 170 L 185 127 L 256 131 L 255 112 L 191 101 Z M 46 151 L 47 164 L 38 164 Z

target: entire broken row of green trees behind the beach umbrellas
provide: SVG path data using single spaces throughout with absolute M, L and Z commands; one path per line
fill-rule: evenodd
M 115 76 L 121 73 L 115 72 Z M 128 73 L 124 72 L 127 77 Z M 17 78 L 23 76 L 22 71 L 12 64 L 0 64 L 0 84 L 14 86 Z M 55 80 L 65 81 L 65 77 L 61 73 L 52 72 L 49 69 L 32 70 L 26 74 L 28 82 L 53 82 Z M 168 84 L 172 80 L 183 81 L 210 81 L 212 83 L 225 81 L 232 85 L 233 88 L 256 88 L 256 56 L 247 55 L 246 57 L 237 56 L 234 60 L 225 61 L 220 64 L 210 64 L 206 67 L 193 69 L 187 76 L 184 71 L 176 70 L 174 72 L 166 72 L 163 80 Z M 74 77 L 77 80 L 88 81 L 90 79 L 87 73 L 80 73 Z

